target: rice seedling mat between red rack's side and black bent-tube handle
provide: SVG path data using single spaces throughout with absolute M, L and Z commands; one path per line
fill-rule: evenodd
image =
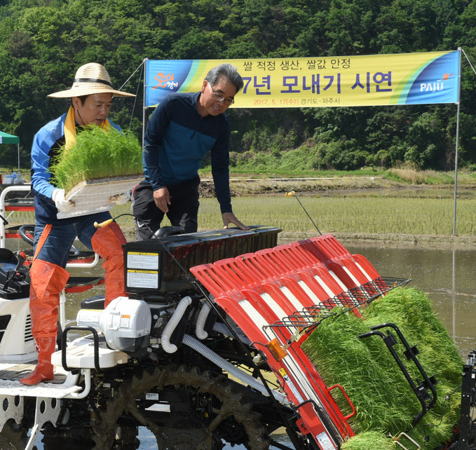
M 418 402 L 402 402 L 402 397 L 412 397 L 412 389 L 381 339 L 358 339 L 368 331 L 362 318 L 336 315 L 323 320 L 303 348 L 329 386 L 344 386 L 357 410 L 351 419 L 355 432 L 388 430 L 395 434 L 409 428 Z M 375 359 L 375 353 L 381 357 Z M 341 409 L 344 414 L 351 412 L 348 404 Z

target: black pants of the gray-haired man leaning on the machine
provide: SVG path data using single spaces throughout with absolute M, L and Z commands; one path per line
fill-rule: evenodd
M 185 233 L 195 233 L 198 222 L 198 185 L 200 177 L 167 186 L 170 194 L 167 217 L 173 226 L 182 226 Z M 137 240 L 150 239 L 161 227 L 165 215 L 154 202 L 154 191 L 147 182 L 140 182 L 132 191 L 132 214 L 134 214 Z

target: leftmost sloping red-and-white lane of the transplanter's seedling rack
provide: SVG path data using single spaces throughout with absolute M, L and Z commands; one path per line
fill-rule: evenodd
M 287 342 L 292 339 L 292 333 L 288 327 L 283 327 L 281 333 L 276 334 L 269 327 L 270 323 L 276 322 L 279 317 L 273 307 L 262 299 L 259 292 L 254 289 L 243 289 L 243 291 L 233 289 L 229 280 L 224 280 L 224 271 L 215 267 L 215 264 L 193 267 L 191 272 L 215 296 L 217 304 L 224 308 L 257 349 L 266 355 L 268 365 L 280 380 L 287 397 L 296 407 L 299 406 L 297 409 L 304 428 L 313 436 L 325 432 L 333 442 L 334 448 L 338 448 L 338 443 L 332 439 L 332 433 L 320 420 L 313 403 L 309 402 L 313 400 L 321 405 L 330 423 L 339 431 L 341 439 L 352 436 L 353 431 L 350 425 L 299 345 L 296 342 L 292 343 L 287 349 L 288 355 L 280 361 L 276 360 L 267 348 L 266 343 L 275 337 L 278 337 L 283 346 L 288 345 Z M 223 290 L 221 295 L 217 296 L 220 286 L 223 286 Z M 301 379 L 297 379 L 296 374 L 301 374 Z M 303 387 L 303 384 L 307 387 Z

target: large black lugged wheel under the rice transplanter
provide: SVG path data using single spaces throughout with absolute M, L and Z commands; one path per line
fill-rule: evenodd
M 177 404 L 179 409 L 172 410 Z M 164 405 L 170 411 L 158 412 L 156 407 Z M 269 447 L 261 416 L 252 404 L 233 392 L 225 376 L 196 367 L 156 368 L 132 377 L 107 402 L 100 418 L 93 428 L 93 450 L 121 448 L 118 437 L 130 435 L 124 431 L 134 426 L 149 429 L 157 450 L 220 450 L 224 442 L 250 450 Z

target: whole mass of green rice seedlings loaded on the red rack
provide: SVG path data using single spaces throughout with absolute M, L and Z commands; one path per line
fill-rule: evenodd
M 357 411 L 349 421 L 357 436 L 349 440 L 348 445 L 353 442 L 352 446 L 343 446 L 343 449 L 381 450 L 386 447 L 381 446 L 376 435 L 391 441 L 388 436 L 395 437 L 400 432 L 407 432 L 420 444 L 425 443 L 426 449 L 435 449 L 447 442 L 458 422 L 459 395 L 451 395 L 461 383 L 463 362 L 428 297 L 417 289 L 395 289 L 374 301 L 362 315 L 357 318 L 345 313 L 322 320 L 303 344 L 324 381 L 329 386 L 343 386 Z M 414 427 L 412 422 L 421 411 L 421 404 L 383 339 L 379 336 L 358 338 L 372 326 L 386 322 L 395 323 L 410 346 L 418 344 L 423 369 L 428 376 L 435 374 L 439 381 L 435 386 L 435 406 Z M 380 331 L 386 332 L 386 329 Z M 414 381 L 421 380 L 413 362 L 403 357 L 404 347 L 397 341 L 394 348 L 410 376 Z M 344 414 L 349 414 L 351 408 L 347 402 L 337 396 L 336 402 Z M 376 435 L 360 438 L 365 432 Z M 370 445 L 372 439 L 375 446 Z

